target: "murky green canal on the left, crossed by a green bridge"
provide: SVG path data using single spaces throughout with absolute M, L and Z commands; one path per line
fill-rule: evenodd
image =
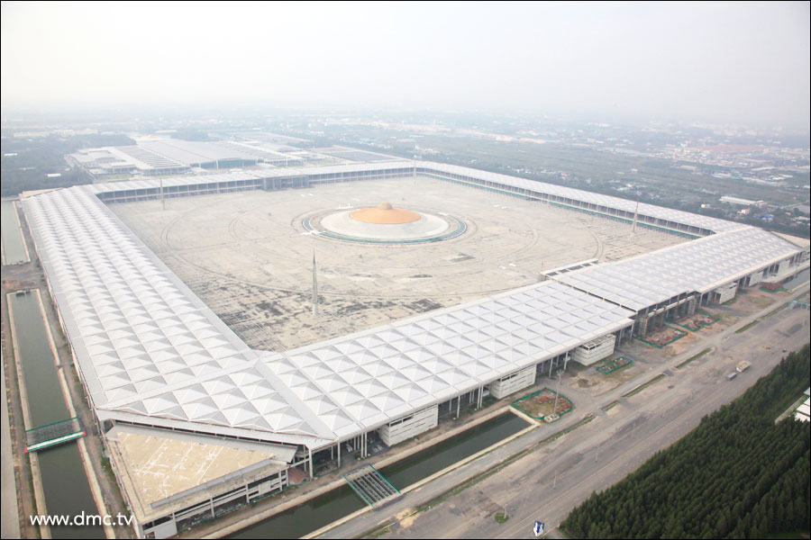
M 16 346 L 28 394 L 28 402 L 23 407 L 28 407 L 32 427 L 68 419 L 70 414 L 59 385 L 37 295 L 31 292 L 11 294 L 7 298 L 12 307 Z M 72 368 L 66 366 L 65 369 Z M 73 518 L 81 516 L 82 512 L 85 516 L 98 514 L 75 442 L 41 450 L 37 458 L 49 516 Z M 91 526 L 51 525 L 50 534 L 54 538 L 105 537 L 102 527 Z

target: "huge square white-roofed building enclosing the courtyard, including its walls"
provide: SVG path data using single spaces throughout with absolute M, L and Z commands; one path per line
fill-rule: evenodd
M 417 174 L 697 239 L 272 353 L 245 345 L 105 205 Z M 480 406 L 488 393 L 530 386 L 539 370 L 565 367 L 573 356 L 596 362 L 632 327 L 643 335 L 669 311 L 757 283 L 753 275 L 808 266 L 803 248 L 761 229 L 650 204 L 637 211 L 633 201 L 430 162 L 81 185 L 32 196 L 23 209 L 141 535 L 174 534 L 283 489 L 296 470 L 313 474 L 314 453 L 340 466 L 342 446 L 365 455 L 371 434 L 394 445 L 462 405 Z M 222 474 L 198 485 L 154 491 L 138 480 L 149 473 L 138 448 L 169 439 L 225 441 L 242 461 L 218 465 Z

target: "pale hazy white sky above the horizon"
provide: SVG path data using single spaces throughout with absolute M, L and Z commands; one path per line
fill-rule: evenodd
M 809 3 L 2 4 L 2 104 L 390 105 L 809 125 Z

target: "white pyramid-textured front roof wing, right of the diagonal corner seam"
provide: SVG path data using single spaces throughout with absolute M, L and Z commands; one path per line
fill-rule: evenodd
M 266 359 L 336 437 L 378 428 L 633 324 L 545 282 Z

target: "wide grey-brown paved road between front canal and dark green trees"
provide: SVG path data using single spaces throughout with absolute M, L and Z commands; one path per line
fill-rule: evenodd
M 807 285 L 804 290 L 807 291 Z M 618 482 L 657 450 L 695 428 L 708 412 L 734 400 L 779 363 L 782 348 L 794 350 L 805 345 L 809 327 L 806 310 L 779 311 L 742 334 L 734 333 L 734 329 L 775 307 L 772 305 L 714 337 L 700 341 L 696 347 L 662 363 L 661 370 L 648 371 L 606 393 L 601 396 L 600 405 L 615 401 L 640 380 L 648 380 L 670 367 L 671 376 L 632 398 L 622 399 L 607 413 L 596 409 L 597 418 L 586 426 L 542 446 L 488 480 L 451 497 L 435 509 L 419 515 L 413 523 L 405 520 L 387 537 L 532 537 L 530 528 L 536 518 L 545 520 L 550 536 L 557 537 L 554 527 L 592 491 L 601 491 Z M 715 347 L 715 351 L 683 369 L 672 369 L 706 347 Z M 744 358 L 752 360 L 752 368 L 734 381 L 727 381 L 726 374 Z M 581 415 L 585 414 L 583 408 L 579 411 Z M 566 428 L 579 418 L 582 416 L 560 420 L 561 424 L 555 429 Z M 406 494 L 384 509 L 336 527 L 323 537 L 360 536 L 387 518 L 432 500 L 463 479 L 488 469 L 506 455 L 531 446 L 550 434 L 549 427 L 536 429 L 496 452 Z M 493 514 L 504 509 L 511 518 L 506 524 L 498 525 Z

